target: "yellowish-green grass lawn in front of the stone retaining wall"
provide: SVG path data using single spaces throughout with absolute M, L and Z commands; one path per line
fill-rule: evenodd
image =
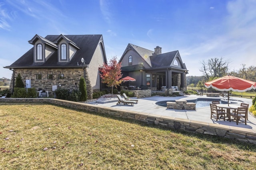
M 0 103 L 0 169 L 256 169 L 256 146 L 50 104 Z

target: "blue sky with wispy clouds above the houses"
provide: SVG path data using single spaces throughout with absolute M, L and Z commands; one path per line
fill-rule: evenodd
M 256 65 L 256 0 L 1 0 L 0 78 L 32 48 L 34 35 L 102 34 L 106 55 L 128 43 L 162 53 L 179 50 L 188 76 L 223 57 L 230 71 Z

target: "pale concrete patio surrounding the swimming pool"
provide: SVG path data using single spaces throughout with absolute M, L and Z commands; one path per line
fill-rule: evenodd
M 140 111 L 140 112 L 159 115 L 159 116 L 170 116 L 170 117 L 176 117 L 176 118 L 187 119 L 187 120 L 195 120 L 195 121 L 201 121 L 206 123 L 227 125 L 231 129 L 232 127 L 242 127 L 244 128 L 244 130 L 252 129 L 254 132 L 256 132 L 256 118 L 250 114 L 248 114 L 247 125 L 245 125 L 244 123 L 238 123 L 238 125 L 236 125 L 235 121 L 231 121 L 231 122 L 223 121 L 223 120 L 216 121 L 214 119 L 210 119 L 210 106 L 196 108 L 196 110 L 178 110 L 178 109 L 167 109 L 166 107 L 156 105 L 156 102 L 160 102 L 160 101 L 195 100 L 197 98 L 214 99 L 214 100 L 225 99 L 225 97 L 213 98 L 213 97 L 196 96 L 196 95 L 179 96 L 179 97 L 153 96 L 150 98 L 140 98 L 138 104 L 135 103 L 133 106 L 123 105 L 123 104 L 116 105 L 118 101 L 117 98 L 99 99 L 96 102 L 92 102 L 88 104 L 118 108 L 118 109 L 127 109 L 129 111 Z M 245 103 L 249 104 L 250 106 L 252 105 L 252 99 L 235 98 L 235 97 L 230 97 L 230 99 L 242 100 Z M 232 104 L 232 105 L 240 106 L 240 103 Z

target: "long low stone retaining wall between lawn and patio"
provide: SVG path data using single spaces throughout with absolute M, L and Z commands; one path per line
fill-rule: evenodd
M 180 119 L 170 116 L 154 115 L 138 111 L 129 111 L 125 109 L 116 109 L 92 104 L 84 104 L 79 102 L 71 102 L 67 100 L 52 99 L 52 98 L 0 98 L 0 102 L 37 102 L 50 103 L 59 106 L 66 106 L 74 109 L 92 111 L 100 114 L 112 115 L 115 117 L 123 117 L 143 121 L 149 124 L 155 124 L 170 129 L 201 133 L 206 135 L 215 135 L 226 137 L 242 142 L 256 144 L 256 133 L 252 129 L 241 127 L 230 127 L 227 125 L 218 125 L 214 123 L 206 123 L 187 119 Z

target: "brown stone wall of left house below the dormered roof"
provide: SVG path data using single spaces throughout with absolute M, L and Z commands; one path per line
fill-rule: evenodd
M 37 69 L 15 69 L 15 78 L 17 77 L 18 73 L 26 85 L 26 80 L 31 80 L 31 87 L 42 88 L 45 91 L 49 92 L 49 96 L 54 96 L 52 92 L 52 86 L 57 85 L 58 88 L 65 88 L 65 89 L 79 89 L 79 83 L 81 76 L 85 77 L 86 81 L 86 90 L 88 94 L 88 99 L 92 99 L 92 86 L 90 84 L 89 77 L 87 76 L 87 71 L 82 68 L 37 68 Z M 37 80 L 36 74 L 42 74 L 42 79 Z M 52 74 L 53 79 L 47 79 L 47 75 Z M 64 79 L 59 79 L 58 75 L 64 74 Z M 13 76 L 12 76 L 13 77 Z M 12 91 L 12 82 L 10 84 L 10 90 Z M 14 82 L 15 83 L 15 82 Z M 76 85 L 75 85 L 76 84 Z

